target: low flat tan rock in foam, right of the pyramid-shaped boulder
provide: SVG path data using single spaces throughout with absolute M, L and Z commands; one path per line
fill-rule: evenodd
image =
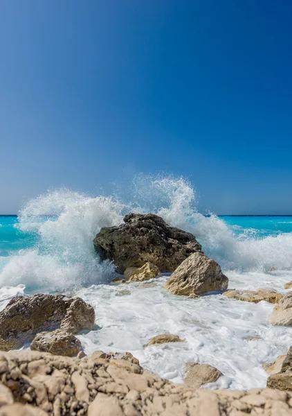
M 230 299 L 243 300 L 244 302 L 258 303 L 262 300 L 266 302 L 277 304 L 282 299 L 282 293 L 276 292 L 273 289 L 259 288 L 257 291 L 226 291 L 224 296 Z

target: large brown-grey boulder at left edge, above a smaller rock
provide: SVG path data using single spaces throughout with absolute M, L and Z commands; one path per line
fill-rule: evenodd
M 37 294 L 14 297 L 0 312 L 0 349 L 18 349 L 39 332 L 93 329 L 95 313 L 80 297 Z

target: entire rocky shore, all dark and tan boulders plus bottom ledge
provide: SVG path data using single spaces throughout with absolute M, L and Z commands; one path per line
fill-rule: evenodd
M 275 304 L 270 324 L 292 325 L 292 292 L 227 290 L 228 277 L 196 238 L 154 214 L 129 214 L 122 225 L 102 228 L 93 244 L 100 260 L 116 266 L 112 284 L 171 272 L 165 289 L 192 298 L 194 308 L 210 292 L 225 295 L 226 302 L 266 301 Z M 224 376 L 212 365 L 185 363 L 185 384 L 178 385 L 144 371 L 129 353 L 86 356 L 76 335 L 94 325 L 94 309 L 80 297 L 12 298 L 0 312 L 0 416 L 292 415 L 292 348 L 265 365 L 268 388 L 211 392 L 206 384 Z M 144 347 L 165 343 L 185 339 L 161 333 Z M 32 351 L 11 351 L 29 345 Z

